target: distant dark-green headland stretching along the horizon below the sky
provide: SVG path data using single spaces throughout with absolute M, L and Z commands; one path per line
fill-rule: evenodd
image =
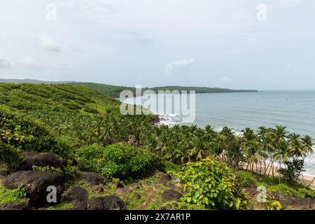
M 118 98 L 120 97 L 120 92 L 123 90 L 131 90 L 132 92 L 136 92 L 135 87 L 126 87 L 126 86 L 118 86 L 118 85 L 107 85 L 102 83 L 81 83 L 76 81 L 43 81 L 43 80 L 34 80 L 34 79 L 1 79 L 0 83 L 32 83 L 32 84 L 69 84 L 69 85 L 83 85 L 85 87 L 90 87 L 92 90 L 97 90 L 106 94 L 110 97 Z M 164 87 L 144 87 L 143 91 L 153 90 L 158 92 L 159 90 L 195 90 L 196 93 L 227 93 L 227 92 L 259 92 L 258 90 L 230 90 L 227 88 L 219 88 L 219 87 L 186 87 L 186 86 L 164 86 Z

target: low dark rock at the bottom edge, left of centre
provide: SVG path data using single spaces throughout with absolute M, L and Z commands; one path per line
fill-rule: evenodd
M 125 203 L 116 195 L 93 197 L 87 202 L 88 210 L 126 210 Z

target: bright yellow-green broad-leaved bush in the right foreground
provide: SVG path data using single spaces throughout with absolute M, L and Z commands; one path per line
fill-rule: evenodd
M 246 209 L 246 195 L 237 188 L 237 179 L 222 162 L 206 159 L 188 162 L 179 174 L 186 195 L 183 201 L 203 204 L 208 209 Z

